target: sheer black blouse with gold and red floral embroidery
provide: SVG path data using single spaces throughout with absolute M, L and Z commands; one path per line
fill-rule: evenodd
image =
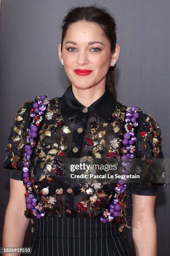
M 25 144 L 32 104 L 33 101 L 27 101 L 18 110 L 8 137 L 3 167 L 10 169 L 12 179 L 22 180 L 21 148 Z M 127 107 L 115 100 L 107 84 L 104 94 L 88 108 L 77 101 L 71 85 L 62 97 L 49 100 L 30 166 L 30 179 L 39 197 L 39 210 L 45 209 L 48 216 L 68 218 L 98 218 L 103 213 L 115 186 L 69 184 L 63 175 L 62 162 L 67 158 L 108 158 L 110 152 L 120 159 L 126 111 Z M 160 127 L 150 114 L 144 114 L 142 110 L 136 137 L 132 147 L 132 152 L 135 148 L 135 157 L 163 158 Z M 157 195 L 158 185 L 164 184 L 130 184 L 122 211 L 124 223 L 129 221 L 132 193 Z M 80 209 L 80 203 L 85 207 Z M 27 209 L 25 215 L 31 217 L 32 213 Z

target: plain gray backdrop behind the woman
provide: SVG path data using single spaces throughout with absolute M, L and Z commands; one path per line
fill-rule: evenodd
M 0 8 L 0 83 L 1 83 L 1 166 L 13 118 L 26 100 L 45 94 L 61 96 L 67 77 L 59 59 L 57 45 L 61 22 L 71 7 L 90 5 L 90 0 L 1 0 Z M 163 152 L 170 157 L 170 1 L 97 1 L 112 11 L 117 22 L 117 100 L 133 104 L 158 121 L 163 134 Z M 0 168 L 1 222 L 9 198 L 9 171 Z M 158 255 L 168 255 L 170 236 L 170 188 L 159 189 L 155 214 L 158 224 Z M 30 227 L 25 246 L 31 236 Z M 131 242 L 130 231 L 125 235 Z

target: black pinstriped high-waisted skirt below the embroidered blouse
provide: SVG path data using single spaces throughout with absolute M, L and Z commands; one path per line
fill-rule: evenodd
M 98 218 L 33 217 L 32 256 L 133 256 L 115 223 Z

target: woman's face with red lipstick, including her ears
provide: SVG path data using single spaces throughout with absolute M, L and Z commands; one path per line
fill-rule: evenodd
M 96 23 L 79 21 L 72 23 L 67 29 L 62 52 L 61 44 L 58 45 L 58 51 L 71 83 L 77 88 L 85 89 L 105 84 L 109 67 L 119 58 L 120 46 L 116 44 L 115 52 L 111 54 L 110 42 L 102 28 Z M 81 73 L 81 69 L 92 72 Z

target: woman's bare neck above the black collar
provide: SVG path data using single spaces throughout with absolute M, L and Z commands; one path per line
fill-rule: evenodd
M 78 102 L 88 108 L 93 102 L 95 102 L 104 94 L 105 82 L 85 88 L 80 88 L 72 84 L 72 92 L 76 100 L 78 100 Z

